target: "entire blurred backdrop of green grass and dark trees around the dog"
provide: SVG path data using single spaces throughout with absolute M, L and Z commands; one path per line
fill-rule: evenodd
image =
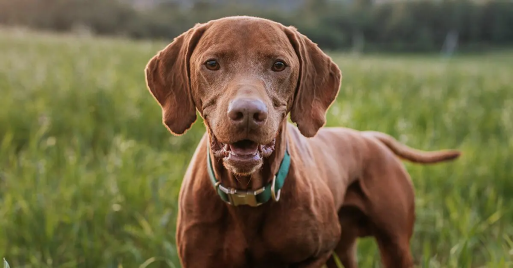
M 162 125 L 144 67 L 195 23 L 293 25 L 343 73 L 328 126 L 386 132 L 419 267 L 513 267 L 513 1 L 0 0 L 0 257 L 17 267 L 180 267 L 176 201 L 205 128 Z M 205 234 L 208 235 L 208 234 Z M 379 267 L 372 239 L 361 267 Z

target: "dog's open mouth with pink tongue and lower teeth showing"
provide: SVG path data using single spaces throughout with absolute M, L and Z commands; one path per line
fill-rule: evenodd
M 211 147 L 214 156 L 223 160 L 232 163 L 257 163 L 272 154 L 275 141 L 276 139 L 273 139 L 270 143 L 262 145 L 250 139 L 243 139 L 233 143 L 222 143 L 213 139 Z

